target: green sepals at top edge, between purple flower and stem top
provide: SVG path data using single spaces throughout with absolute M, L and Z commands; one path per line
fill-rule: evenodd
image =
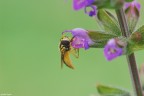
M 96 5 L 98 9 L 119 9 L 122 8 L 124 2 L 122 0 L 95 0 L 93 4 Z

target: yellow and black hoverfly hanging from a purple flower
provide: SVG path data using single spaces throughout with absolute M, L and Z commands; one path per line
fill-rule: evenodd
M 70 59 L 70 53 L 72 53 L 76 58 L 79 57 L 79 49 L 75 49 L 71 46 L 73 38 L 70 39 L 66 36 L 63 36 L 60 40 L 59 49 L 61 52 L 61 68 L 63 64 L 68 66 L 71 69 L 74 69 L 72 61 Z

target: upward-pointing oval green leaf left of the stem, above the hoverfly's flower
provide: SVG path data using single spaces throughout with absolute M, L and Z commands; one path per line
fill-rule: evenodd
M 121 36 L 121 30 L 118 21 L 110 12 L 101 9 L 98 11 L 97 18 L 99 24 L 103 26 L 105 32 Z

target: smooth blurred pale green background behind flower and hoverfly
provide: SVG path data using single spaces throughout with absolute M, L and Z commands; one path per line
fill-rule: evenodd
M 76 27 L 100 30 L 72 9 L 72 0 L 0 0 L 0 94 L 95 96 L 99 83 L 132 91 L 125 56 L 108 62 L 103 49 L 81 49 L 79 59 L 72 57 L 75 70 L 60 68 L 61 32 Z M 138 66 L 143 52 L 136 52 Z

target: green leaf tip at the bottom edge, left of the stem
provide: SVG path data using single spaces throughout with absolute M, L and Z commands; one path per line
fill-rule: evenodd
M 111 86 L 98 85 L 97 90 L 100 96 L 131 96 L 128 91 Z

